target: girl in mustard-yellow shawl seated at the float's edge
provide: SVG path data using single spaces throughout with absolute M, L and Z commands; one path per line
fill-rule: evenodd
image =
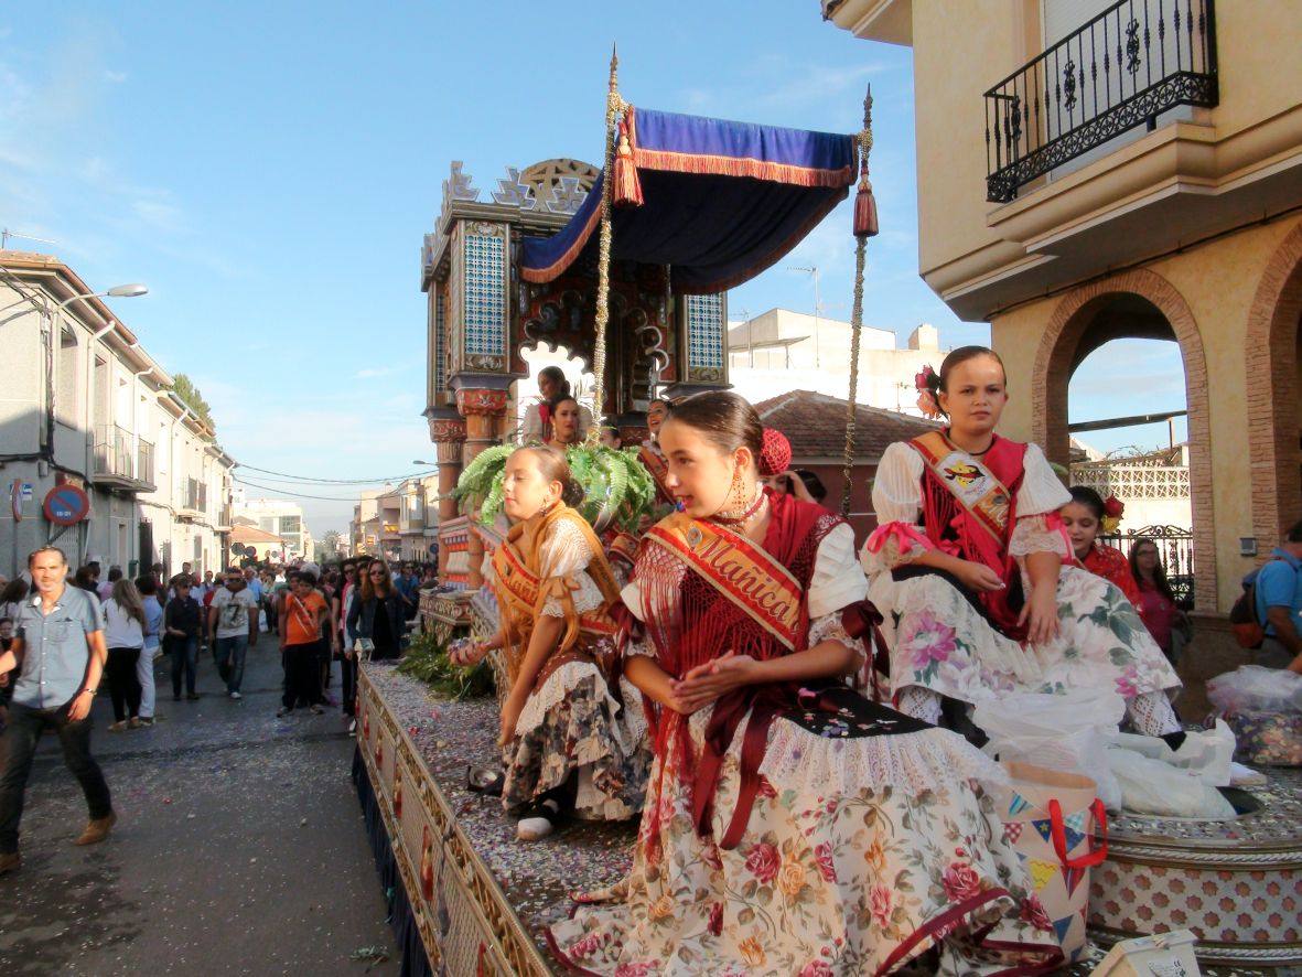
M 535 842 L 559 819 L 620 821 L 635 814 L 650 763 L 641 706 L 616 685 L 618 589 L 592 528 L 570 508 L 582 491 L 553 448 L 517 448 L 503 498 L 512 528 L 487 582 L 501 627 L 454 655 L 474 664 L 501 649 L 510 692 L 501 710 L 503 805 L 517 836 Z

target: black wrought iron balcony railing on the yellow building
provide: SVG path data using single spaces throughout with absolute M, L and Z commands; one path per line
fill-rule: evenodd
M 986 92 L 986 199 L 1219 99 L 1215 1 L 1120 0 Z

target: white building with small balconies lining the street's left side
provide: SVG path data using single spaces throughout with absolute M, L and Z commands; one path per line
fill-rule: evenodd
M 30 486 L 0 521 L 5 573 L 49 542 L 128 573 L 220 567 L 234 462 L 116 310 L 59 258 L 4 250 L 0 337 L 0 479 Z M 90 500 L 72 526 L 42 511 L 64 485 Z

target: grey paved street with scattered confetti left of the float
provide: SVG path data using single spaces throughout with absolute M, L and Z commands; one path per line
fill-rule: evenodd
M 44 739 L 23 869 L 0 879 L 0 973 L 397 973 L 337 709 L 275 718 L 281 672 L 266 636 L 243 702 L 219 694 L 211 658 L 203 697 L 173 702 L 158 664 L 164 720 L 152 729 L 109 733 L 108 697 L 95 703 L 120 817 L 104 844 L 69 844 L 86 808 Z M 350 959 L 374 946 L 387 963 Z

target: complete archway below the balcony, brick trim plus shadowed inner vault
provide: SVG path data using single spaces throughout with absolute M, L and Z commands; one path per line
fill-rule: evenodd
M 1064 466 L 1070 464 L 1072 376 L 1092 353 L 1105 353 L 1104 347 L 1126 339 L 1173 341 L 1180 349 L 1185 374 L 1184 409 L 1187 412 L 1186 447 L 1181 449 L 1180 461 L 1187 468 L 1193 524 L 1185 569 L 1193 572 L 1193 606 L 1204 614 L 1215 614 L 1216 545 L 1207 363 L 1193 313 L 1169 281 L 1155 272 L 1135 270 L 1082 285 L 1059 302 L 1036 353 L 1031 380 L 1032 436 L 1044 446 L 1051 461 Z M 1170 405 L 1163 406 L 1170 410 Z M 1109 413 L 1109 417 L 1116 414 Z M 1081 434 L 1087 436 L 1087 431 Z

